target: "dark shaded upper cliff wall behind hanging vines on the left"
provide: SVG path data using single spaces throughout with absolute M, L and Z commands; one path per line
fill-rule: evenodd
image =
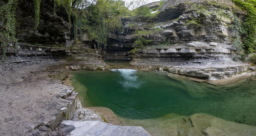
M 54 12 L 52 0 L 41 0 L 40 22 L 36 30 L 34 6 L 30 0 L 19 3 L 16 17 L 19 42 L 61 44 L 70 40 L 68 15 L 62 8 L 57 8 Z

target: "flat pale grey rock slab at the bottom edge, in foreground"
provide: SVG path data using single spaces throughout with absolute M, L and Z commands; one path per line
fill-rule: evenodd
M 61 124 L 66 125 L 62 129 L 68 136 L 151 136 L 142 127 L 111 125 L 100 121 L 64 120 Z

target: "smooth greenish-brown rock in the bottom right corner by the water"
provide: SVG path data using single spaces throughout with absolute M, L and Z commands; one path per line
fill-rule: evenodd
M 152 136 L 254 136 L 256 127 L 226 121 L 204 113 L 191 116 L 166 114 L 166 118 L 136 120 Z

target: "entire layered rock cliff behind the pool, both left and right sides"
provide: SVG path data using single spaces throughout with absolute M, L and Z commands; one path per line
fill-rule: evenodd
M 151 3 L 146 6 L 153 10 L 159 5 Z M 57 8 L 55 13 L 51 0 L 41 0 L 41 20 L 38 29 L 34 30 L 33 3 L 23 0 L 16 13 L 19 18 L 16 33 L 21 43 L 15 50 L 20 50 L 17 55 L 27 60 L 53 58 L 89 62 L 102 61 L 103 56 L 131 58 L 132 65 L 148 67 L 237 65 L 232 60 L 236 54 L 232 42 L 239 33 L 234 27 L 237 25 L 236 16 L 243 13 L 238 10 L 234 15 L 233 9 L 236 10 L 236 6 L 230 0 L 218 3 L 212 0 L 168 0 L 155 17 L 139 21 L 123 18 L 124 31 L 110 35 L 106 50 L 101 50 L 86 35 L 81 37 L 81 42 L 87 44 L 74 44 L 66 11 Z M 134 49 L 132 45 L 138 37 L 152 42 L 144 48 Z M 30 44 L 22 44 L 24 42 Z M 15 53 L 11 44 L 7 48 L 9 54 Z

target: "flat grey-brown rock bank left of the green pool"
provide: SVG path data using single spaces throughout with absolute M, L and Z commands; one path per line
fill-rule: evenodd
M 1 64 L 0 89 L 5 90 L 0 95 L 1 136 L 47 135 L 63 120 L 73 118 L 78 93 L 73 87 L 61 84 L 59 75 L 66 78 L 69 72 L 60 65 L 55 69 L 52 65 L 56 64 L 60 62 Z

